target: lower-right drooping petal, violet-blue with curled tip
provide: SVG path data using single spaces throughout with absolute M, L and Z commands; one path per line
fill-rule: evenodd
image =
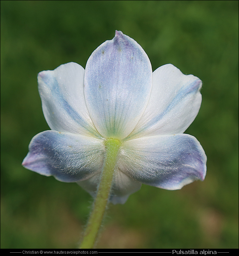
M 206 155 L 191 135 L 150 136 L 123 143 L 118 167 L 143 184 L 177 190 L 204 180 Z

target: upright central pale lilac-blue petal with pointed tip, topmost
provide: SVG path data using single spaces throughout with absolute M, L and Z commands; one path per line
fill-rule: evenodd
M 85 69 L 84 93 L 91 119 L 105 138 L 132 132 L 148 102 L 152 68 L 141 46 L 121 31 L 99 46 Z

